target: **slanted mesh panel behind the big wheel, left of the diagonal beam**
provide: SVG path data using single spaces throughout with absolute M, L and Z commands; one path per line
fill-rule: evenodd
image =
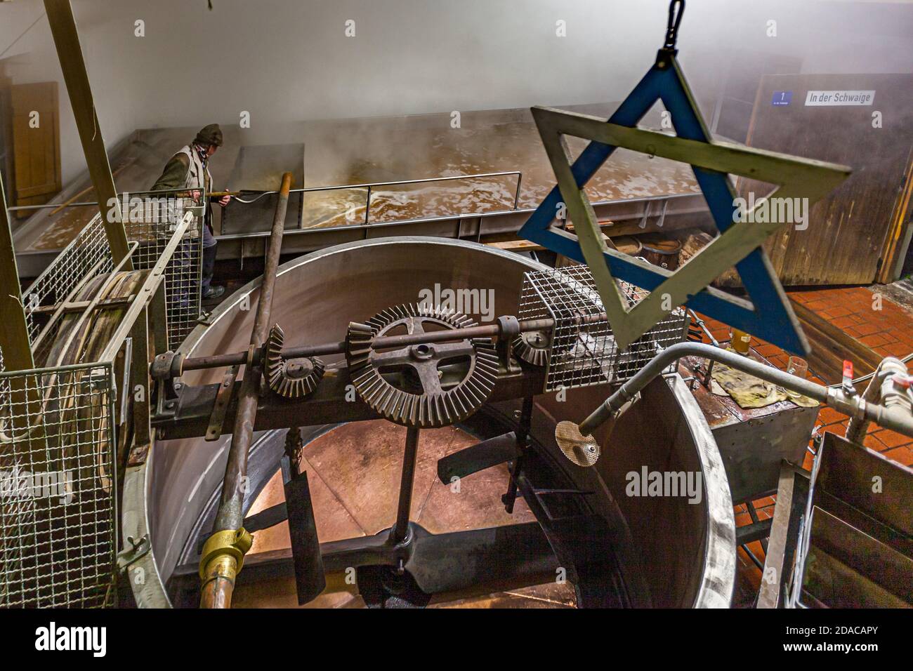
M 35 341 L 46 321 L 36 308 L 67 299 L 84 280 L 110 273 L 113 267 L 105 226 L 97 215 L 23 293 L 29 340 Z

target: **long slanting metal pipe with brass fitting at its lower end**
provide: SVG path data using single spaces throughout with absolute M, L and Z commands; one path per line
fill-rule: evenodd
M 286 209 L 289 205 L 289 189 L 292 174 L 282 175 L 282 186 L 279 189 L 276 215 L 269 235 L 269 253 L 263 269 L 263 282 L 260 285 L 260 298 L 257 300 L 257 314 L 254 328 L 250 333 L 250 347 L 259 348 L 266 340 L 269 330 L 269 315 L 273 306 L 273 289 L 276 287 L 276 269 L 279 254 L 282 251 L 282 228 L 285 225 Z M 210 540 L 223 539 L 213 551 L 204 552 L 201 565 L 201 576 L 204 584 L 200 598 L 201 608 L 228 608 L 231 605 L 231 594 L 235 587 L 235 576 L 241 568 L 244 552 L 241 548 L 240 558 L 236 557 L 237 540 L 244 540 L 241 525 L 244 522 L 244 482 L 247 477 L 247 452 L 254 435 L 254 422 L 257 419 L 257 397 L 260 387 L 261 366 L 252 362 L 247 366 L 244 380 L 238 393 L 235 426 L 228 448 L 226 477 L 222 484 L 222 498 L 219 501 L 215 516 L 215 528 Z M 228 531 L 235 531 L 241 538 L 226 537 Z M 246 533 L 246 532 L 245 532 Z M 247 535 L 249 538 L 249 535 Z M 207 541 L 209 542 L 209 541 Z

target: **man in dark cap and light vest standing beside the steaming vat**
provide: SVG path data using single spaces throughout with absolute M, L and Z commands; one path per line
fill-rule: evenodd
M 194 138 L 194 142 L 184 145 L 180 152 L 174 154 L 165 165 L 162 176 L 152 184 L 152 191 L 162 189 L 188 189 L 194 199 L 200 197 L 198 189 L 206 193 L 212 191 L 212 175 L 209 174 L 209 157 L 222 146 L 222 129 L 219 124 L 210 123 L 205 126 Z M 168 194 L 173 196 L 173 194 Z M 231 200 L 230 195 L 221 198 L 211 198 L 225 207 Z M 213 236 L 213 213 L 209 206 L 205 207 L 203 226 L 203 277 L 201 290 L 204 299 L 217 299 L 225 293 L 225 287 L 212 286 L 213 271 L 215 270 L 215 236 Z

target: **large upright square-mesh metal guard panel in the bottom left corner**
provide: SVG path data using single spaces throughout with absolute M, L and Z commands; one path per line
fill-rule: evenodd
M 113 374 L 0 372 L 0 607 L 113 602 Z

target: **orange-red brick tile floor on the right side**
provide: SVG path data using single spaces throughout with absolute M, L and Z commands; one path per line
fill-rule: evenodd
M 892 302 L 887 296 L 879 295 L 877 288 L 873 290 L 864 287 L 821 288 L 791 291 L 789 296 L 883 357 L 904 357 L 913 352 L 913 314 Z M 703 319 L 717 341 L 729 341 L 729 327 L 726 324 L 706 317 Z M 708 341 L 706 336 L 704 340 Z M 751 346 L 773 365 L 781 370 L 786 369 L 789 355 L 776 345 L 752 338 Z M 913 373 L 913 362 L 908 362 L 908 371 Z M 809 379 L 824 384 L 824 381 L 816 377 L 811 369 Z M 848 421 L 845 414 L 822 406 L 815 425 L 818 431 L 831 431 L 844 435 Z M 913 438 L 907 435 L 870 425 L 865 445 L 898 464 L 913 466 Z M 803 467 L 811 469 L 811 453 L 805 456 Z M 758 519 L 772 517 L 773 504 L 772 497 L 754 501 L 753 505 Z M 735 514 L 736 526 L 750 524 L 748 508 L 743 505 L 736 506 Z M 757 559 L 764 561 L 761 542 L 750 543 L 748 547 Z M 761 587 L 761 571 L 741 548 L 738 550 L 738 565 L 739 582 L 756 593 Z M 741 603 L 741 605 L 750 604 Z

